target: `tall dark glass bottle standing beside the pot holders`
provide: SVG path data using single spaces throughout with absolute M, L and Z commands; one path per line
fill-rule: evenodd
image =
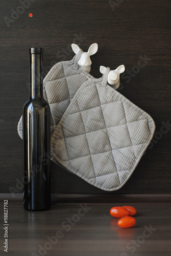
M 30 48 L 30 98 L 23 106 L 23 205 L 26 210 L 48 210 L 50 187 L 50 106 L 43 99 L 43 48 Z

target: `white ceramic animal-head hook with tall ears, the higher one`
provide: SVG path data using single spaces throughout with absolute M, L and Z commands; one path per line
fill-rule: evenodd
M 72 50 L 74 51 L 75 54 L 77 54 L 80 50 L 80 47 L 76 44 L 72 44 L 71 45 Z M 94 44 L 92 44 L 89 49 L 88 52 L 83 52 L 83 54 L 81 55 L 79 61 L 78 61 L 78 65 L 84 69 L 85 71 L 87 71 L 88 73 L 91 70 L 91 59 L 90 56 L 95 54 L 98 50 L 98 45 L 96 44 L 96 42 Z

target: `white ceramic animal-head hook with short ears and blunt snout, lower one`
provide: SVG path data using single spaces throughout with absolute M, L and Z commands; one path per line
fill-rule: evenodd
M 105 74 L 106 69 L 107 69 L 106 67 L 101 66 L 100 72 L 102 74 Z M 119 87 L 120 74 L 123 73 L 124 71 L 125 71 L 125 66 L 120 65 L 117 69 L 111 70 L 109 72 L 108 77 L 107 77 L 107 82 L 108 82 L 108 84 L 110 84 L 110 86 L 113 89 L 117 89 Z

